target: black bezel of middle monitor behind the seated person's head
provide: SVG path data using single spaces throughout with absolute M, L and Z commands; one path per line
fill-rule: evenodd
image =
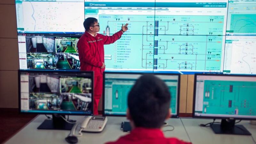
M 172 118 L 179 118 L 179 108 L 180 108 L 180 74 L 173 73 L 148 73 L 148 72 L 104 72 L 103 73 L 103 92 L 102 92 L 102 115 L 103 116 L 121 116 L 124 117 L 126 115 L 116 115 L 116 114 L 105 114 L 105 74 L 134 74 L 134 75 L 144 75 L 144 74 L 153 74 L 153 75 L 172 75 L 178 76 L 178 87 L 177 87 L 177 114 L 172 114 Z

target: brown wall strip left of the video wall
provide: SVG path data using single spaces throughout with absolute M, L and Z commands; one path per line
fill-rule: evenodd
M 0 0 L 0 108 L 18 108 L 18 39 L 14 0 Z

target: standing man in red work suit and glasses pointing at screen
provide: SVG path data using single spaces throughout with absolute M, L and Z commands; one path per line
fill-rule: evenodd
M 81 70 L 94 71 L 94 105 L 93 114 L 98 115 L 98 104 L 102 95 L 103 72 L 105 70 L 104 62 L 104 44 L 112 44 L 118 40 L 128 29 L 128 24 L 122 25 L 120 31 L 113 36 L 104 36 L 97 34 L 100 31 L 100 25 L 95 18 L 84 20 L 84 35 L 80 37 L 77 47 Z

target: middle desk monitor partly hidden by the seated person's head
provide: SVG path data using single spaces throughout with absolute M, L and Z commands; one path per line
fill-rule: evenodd
M 103 78 L 103 115 L 126 116 L 128 94 L 136 80 L 145 73 L 105 72 Z M 172 117 L 179 114 L 180 74 L 158 74 L 171 93 Z

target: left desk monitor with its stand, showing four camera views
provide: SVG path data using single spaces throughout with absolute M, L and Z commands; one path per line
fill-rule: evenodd
M 65 115 L 93 115 L 93 72 L 19 70 L 19 111 L 52 114 L 38 129 L 70 130 Z

